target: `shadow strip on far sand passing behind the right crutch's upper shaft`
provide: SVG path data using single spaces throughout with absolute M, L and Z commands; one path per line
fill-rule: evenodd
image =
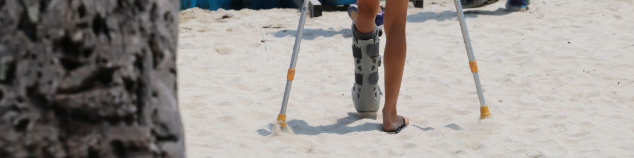
M 507 12 L 504 8 L 498 8 L 495 11 L 482 11 L 482 10 L 467 10 L 464 11 L 465 18 L 477 18 L 478 15 L 508 15 L 512 12 Z M 458 18 L 455 11 L 443 11 L 441 13 L 434 12 L 420 12 L 413 15 L 407 16 L 407 21 L 410 23 L 422 23 L 427 20 L 436 20 L 436 21 L 444 21 L 444 20 L 455 20 Z

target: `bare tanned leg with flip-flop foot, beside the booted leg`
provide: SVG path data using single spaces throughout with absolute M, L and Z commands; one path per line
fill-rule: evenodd
M 405 23 L 409 1 L 389 0 L 385 3 L 384 25 L 387 43 L 385 43 L 384 54 L 385 106 L 383 107 L 383 130 L 393 131 L 403 125 L 403 119 L 396 114 L 396 100 L 401 90 L 407 51 Z M 405 125 L 409 124 L 409 119 L 404 119 Z

